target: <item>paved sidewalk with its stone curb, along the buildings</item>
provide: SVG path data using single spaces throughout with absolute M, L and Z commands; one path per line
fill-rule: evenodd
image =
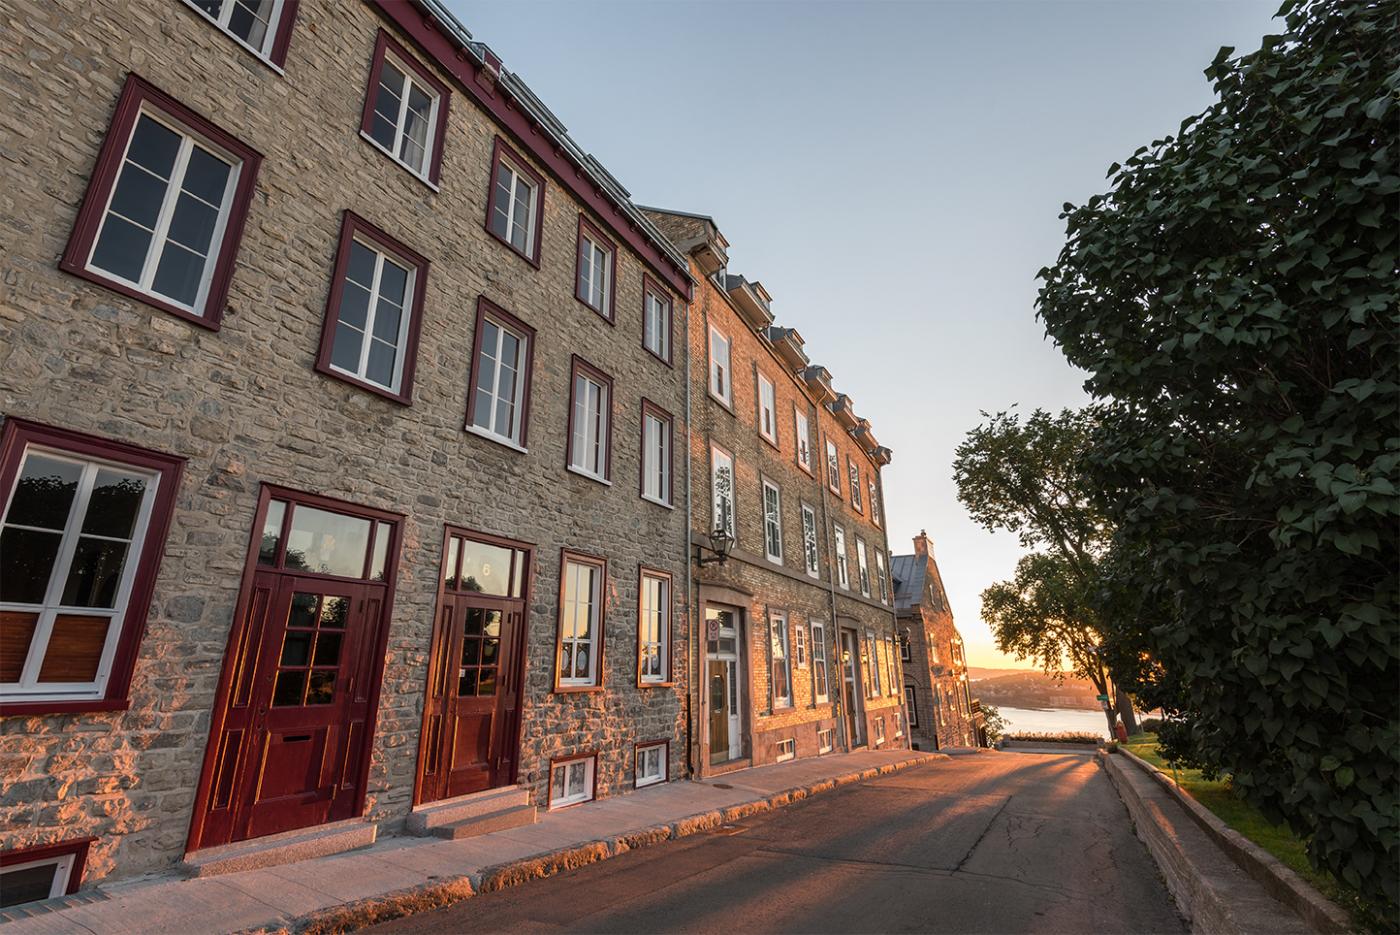
M 50 911 L 6 922 L 0 932 L 354 928 L 608 859 L 938 759 L 914 750 L 808 757 L 542 812 L 536 824 L 459 841 L 393 836 L 358 851 L 245 873 L 99 886 L 56 900 L 60 907 Z

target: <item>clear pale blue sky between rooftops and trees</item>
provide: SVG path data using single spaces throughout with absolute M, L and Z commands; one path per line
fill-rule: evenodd
M 448 0 L 641 204 L 710 214 L 729 270 L 895 451 L 890 549 L 927 529 L 972 665 L 1021 547 L 952 483 L 979 410 L 1085 402 L 1035 318 L 1064 202 L 1211 102 L 1278 0 Z M 1019 663 L 1025 665 L 1025 663 Z

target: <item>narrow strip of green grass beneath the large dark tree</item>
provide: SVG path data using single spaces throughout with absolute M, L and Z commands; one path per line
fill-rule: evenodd
M 1173 768 L 1158 753 L 1155 733 L 1134 733 L 1123 747 L 1170 775 L 1193 799 L 1214 812 L 1225 824 L 1277 857 L 1288 869 L 1317 887 L 1323 896 L 1351 913 L 1358 928 L 1371 928 L 1364 920 L 1373 918 L 1373 910 L 1368 910 L 1359 894 L 1330 875 L 1315 871 L 1303 852 L 1303 841 L 1287 826 L 1270 824 L 1259 809 L 1235 798 L 1228 780 L 1205 780 L 1200 770 Z

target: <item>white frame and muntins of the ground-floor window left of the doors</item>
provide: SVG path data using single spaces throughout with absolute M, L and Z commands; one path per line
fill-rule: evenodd
M 112 662 L 116 656 L 116 648 L 122 641 L 122 630 L 126 623 L 126 607 L 132 598 L 132 585 L 136 581 L 137 570 L 140 568 L 141 561 L 146 558 L 143 547 L 146 544 L 146 532 L 150 525 L 151 509 L 154 508 L 155 495 L 160 487 L 160 474 L 148 469 L 125 465 L 119 461 L 76 455 L 59 448 L 49 448 L 46 445 L 27 445 L 15 469 L 14 483 L 10 490 L 6 491 L 4 512 L 0 514 L 0 529 L 14 525 L 17 529 L 36 529 L 48 533 L 55 532 L 52 529 L 39 529 L 38 526 L 21 526 L 18 523 L 6 522 L 10 516 L 10 507 L 14 502 L 15 490 L 18 490 L 20 486 L 20 477 L 24 473 L 24 465 L 31 455 L 78 465 L 81 468 L 81 473 L 78 474 L 78 486 L 73 494 L 73 502 L 69 504 L 69 515 L 64 519 L 63 532 L 60 533 L 62 537 L 59 539 L 59 550 L 55 554 L 53 565 L 49 570 L 49 584 L 43 592 L 43 602 L 0 602 L 0 610 L 38 614 L 34 626 L 34 634 L 29 637 L 29 649 L 25 655 L 24 666 L 20 670 L 20 680 L 17 683 L 0 686 L 0 698 L 7 703 L 102 698 L 106 693 L 108 679 L 112 675 Z M 104 468 L 140 476 L 146 480 L 146 494 L 137 508 L 136 522 L 132 523 L 132 537 L 127 540 L 126 565 L 122 568 L 122 579 L 118 582 L 111 607 L 64 605 L 62 603 L 63 589 L 67 584 L 69 574 L 73 570 L 73 558 L 77 553 L 78 540 L 81 537 L 88 537 L 102 539 L 106 542 L 122 542 L 120 539 L 112 536 L 94 536 L 92 533 L 81 532 L 83 521 L 87 518 L 87 509 L 92 498 L 92 487 L 97 481 L 97 474 Z M 49 649 L 49 641 L 53 637 L 53 624 L 59 614 L 108 619 L 109 623 L 106 627 L 106 637 L 102 644 L 102 655 L 98 659 L 97 675 L 92 677 L 92 682 L 39 682 L 39 670 L 43 666 L 43 656 Z

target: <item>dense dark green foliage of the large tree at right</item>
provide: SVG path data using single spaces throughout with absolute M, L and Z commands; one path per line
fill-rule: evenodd
M 1393 906 L 1396 13 L 1280 15 L 1207 69 L 1214 106 L 1065 206 L 1039 311 L 1103 403 L 1085 465 L 1138 563 L 1173 745 Z

